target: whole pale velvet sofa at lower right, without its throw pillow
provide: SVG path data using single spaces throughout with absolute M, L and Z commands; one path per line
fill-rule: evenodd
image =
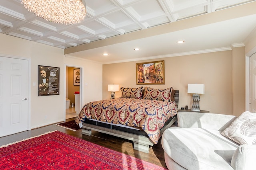
M 236 118 L 214 113 L 178 113 L 178 127 L 170 127 L 162 135 L 168 169 L 256 170 L 256 145 L 239 145 L 221 134 Z

